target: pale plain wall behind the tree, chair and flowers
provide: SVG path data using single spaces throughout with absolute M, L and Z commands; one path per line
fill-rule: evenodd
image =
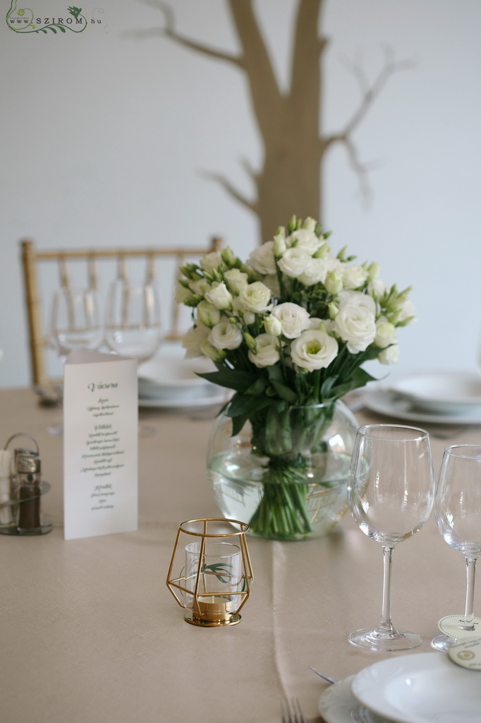
M 236 51 L 223 0 L 171 4 L 183 33 Z M 295 1 L 255 7 L 285 84 Z M 37 9 L 65 14 L 61 0 L 38 0 Z M 255 218 L 202 176 L 220 171 L 251 192 L 240 159 L 255 166 L 261 145 L 242 75 L 169 40 L 136 36 L 160 23 L 154 3 L 82 4 L 87 17 L 94 10 L 102 22 L 83 33 L 24 37 L 0 26 L 4 387 L 29 380 L 19 239 L 90 247 L 199 244 L 221 234 L 242 256 L 257 243 Z M 380 262 L 385 281 L 415 287 L 419 319 L 400 333 L 399 371 L 477 364 L 480 27 L 479 0 L 326 0 L 327 129 L 342 127 L 358 102 L 343 59 L 362 55 L 371 77 L 386 43 L 415 60 L 355 134 L 361 157 L 378 162 L 371 207 L 339 147 L 327 164 L 323 220 L 333 247 L 348 244 L 360 260 Z

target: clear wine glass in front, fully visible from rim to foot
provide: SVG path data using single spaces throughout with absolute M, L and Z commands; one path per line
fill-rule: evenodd
M 408 650 L 423 639 L 391 623 L 394 547 L 424 525 L 433 508 L 434 477 L 428 432 L 395 424 L 360 427 L 352 453 L 347 497 L 364 534 L 381 543 L 384 581 L 381 623 L 351 633 L 351 643 L 378 651 Z

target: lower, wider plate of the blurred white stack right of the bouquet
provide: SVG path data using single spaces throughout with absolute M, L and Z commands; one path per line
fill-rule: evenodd
M 463 414 L 430 414 L 416 410 L 409 399 L 399 397 L 389 390 L 373 388 L 363 395 L 366 408 L 384 416 L 405 419 L 422 424 L 481 424 L 481 409 L 467 409 Z

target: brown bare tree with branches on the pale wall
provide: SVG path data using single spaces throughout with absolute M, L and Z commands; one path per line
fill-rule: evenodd
M 345 146 L 350 164 L 358 174 L 361 192 L 365 196 L 368 194 L 367 166 L 361 163 L 352 136 L 389 77 L 407 67 L 407 63 L 395 61 L 392 52 L 386 49 L 384 65 L 371 82 L 358 64 L 350 64 L 350 71 L 360 86 L 360 103 L 339 132 L 324 134 L 321 130 L 324 102 L 321 60 L 329 41 L 319 34 L 319 25 L 325 0 L 298 0 L 287 93 L 282 93 L 277 84 L 252 0 L 225 1 L 241 43 L 238 55 L 205 46 L 179 33 L 171 7 L 161 0 L 144 2 L 160 9 L 164 27 L 141 34 L 170 38 L 192 51 L 225 61 L 245 74 L 264 143 L 264 158 L 259 170 L 243 161 L 254 181 L 256 197 L 249 199 L 220 173 L 209 172 L 207 175 L 257 215 L 263 242 L 272 237 L 286 213 L 294 212 L 300 218 L 308 215 L 323 218 L 323 164 L 327 150 L 335 143 Z

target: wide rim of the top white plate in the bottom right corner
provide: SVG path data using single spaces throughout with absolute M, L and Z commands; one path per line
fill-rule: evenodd
M 432 666 L 426 665 L 428 663 L 428 660 L 433 663 Z M 402 675 L 402 670 L 399 670 L 399 666 L 404 666 L 404 668 L 407 668 L 410 662 L 417 662 L 414 668 L 415 671 L 419 671 L 420 669 L 445 669 L 447 667 L 451 667 L 451 669 L 458 672 L 459 675 L 465 675 L 466 673 L 471 673 L 472 675 L 479 675 L 477 671 L 465 670 L 460 668 L 459 666 L 456 666 L 456 663 L 452 662 L 445 653 L 412 653 L 410 655 L 402 655 L 395 658 L 378 660 L 376 663 L 368 665 L 367 667 L 356 673 L 351 683 L 353 698 L 355 698 L 355 700 L 358 701 L 361 706 L 365 706 L 366 708 L 368 708 L 369 711 L 372 711 L 377 716 L 381 716 L 381 718 L 386 718 L 393 723 L 430 723 L 430 720 L 432 719 L 428 719 L 425 716 L 420 717 L 417 715 L 409 714 L 410 717 L 407 718 L 407 713 L 405 711 L 402 711 L 402 714 L 399 713 L 397 709 L 394 709 L 394 707 L 391 706 L 387 698 L 377 697 L 373 699 L 372 696 L 363 697 L 363 693 L 365 693 L 365 691 L 360 691 L 359 689 L 357 689 L 360 683 L 363 682 L 364 677 L 372 675 L 372 670 L 374 668 L 381 670 L 386 675 L 389 675 L 389 669 L 394 667 L 395 669 L 398 669 L 398 673 Z M 406 675 L 407 673 L 409 673 L 408 669 L 406 670 L 406 673 L 404 673 L 404 675 Z M 386 680 L 384 682 L 386 683 Z M 373 690 L 374 688 L 376 689 L 377 693 L 379 693 L 380 690 L 381 692 L 384 690 L 383 686 L 379 685 L 379 680 L 376 680 L 375 683 L 373 682 L 371 684 L 371 690 Z M 386 705 L 383 706 L 382 703 L 386 703 Z

